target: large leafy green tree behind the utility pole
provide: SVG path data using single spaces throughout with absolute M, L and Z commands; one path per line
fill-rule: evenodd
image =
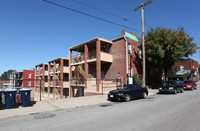
M 154 67 L 162 69 L 166 78 L 176 60 L 196 53 L 193 37 L 185 33 L 184 28 L 177 30 L 157 27 L 150 29 L 145 36 L 146 60 Z

